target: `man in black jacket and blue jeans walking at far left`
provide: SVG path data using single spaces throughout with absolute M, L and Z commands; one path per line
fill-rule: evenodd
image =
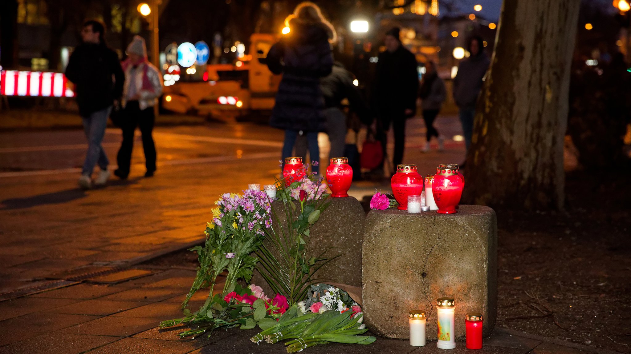
M 79 185 L 83 189 L 92 187 L 92 171 L 97 163 L 101 170 L 94 184 L 105 185 L 110 177 L 107 169 L 109 160 L 101 142 L 112 105 L 121 99 L 125 81 L 119 57 L 105 45 L 104 36 L 103 23 L 86 21 L 81 30 L 83 43 L 74 49 L 66 67 L 66 77 L 75 86 L 79 114 L 88 138 L 88 151 L 79 178 Z

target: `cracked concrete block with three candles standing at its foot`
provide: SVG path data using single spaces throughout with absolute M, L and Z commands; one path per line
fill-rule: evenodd
M 492 208 L 460 205 L 456 214 L 371 210 L 365 222 L 362 299 L 367 326 L 409 338 L 408 312 L 427 313 L 427 338 L 437 337 L 436 299 L 454 297 L 456 338 L 466 312 L 482 312 L 484 335 L 497 314 L 497 217 Z

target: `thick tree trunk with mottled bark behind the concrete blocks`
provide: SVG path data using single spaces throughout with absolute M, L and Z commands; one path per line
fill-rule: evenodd
M 466 202 L 563 208 L 563 137 L 580 3 L 504 1 L 464 169 Z

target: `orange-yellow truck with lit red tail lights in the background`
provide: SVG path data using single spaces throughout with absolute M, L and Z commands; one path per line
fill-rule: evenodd
M 269 115 L 280 76 L 272 74 L 260 59 L 267 56 L 278 36 L 254 33 L 250 39 L 250 54 L 234 64 L 209 64 L 203 79 L 165 87 L 162 108 L 223 120 Z

